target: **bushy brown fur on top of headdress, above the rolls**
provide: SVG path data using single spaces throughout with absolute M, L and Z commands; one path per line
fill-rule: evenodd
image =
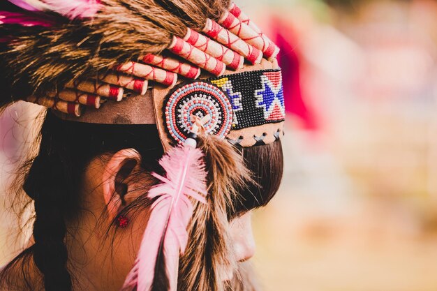
M 13 40 L 0 45 L 0 77 L 10 84 L 13 99 L 64 87 L 78 77 L 162 52 L 172 36 L 184 37 L 187 25 L 200 28 L 208 17 L 218 19 L 227 5 L 221 0 L 102 0 L 98 13 L 86 20 L 49 13 L 51 27 L 3 26 L 0 39 Z

